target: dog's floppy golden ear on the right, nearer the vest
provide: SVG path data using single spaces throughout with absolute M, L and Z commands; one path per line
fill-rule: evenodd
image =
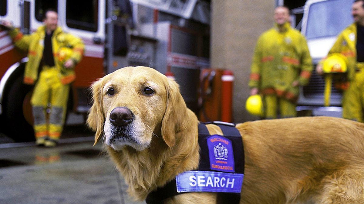
M 175 144 L 175 134 L 183 129 L 186 115 L 186 103 L 179 92 L 179 86 L 173 79 L 168 79 L 167 107 L 162 120 L 162 138 L 169 147 Z

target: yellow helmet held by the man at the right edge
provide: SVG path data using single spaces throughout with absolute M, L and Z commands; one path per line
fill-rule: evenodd
M 332 54 L 324 60 L 324 73 L 345 73 L 348 71 L 348 59 L 342 54 Z

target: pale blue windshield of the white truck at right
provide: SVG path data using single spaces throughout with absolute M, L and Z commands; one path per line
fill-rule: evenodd
M 306 38 L 335 37 L 353 22 L 353 1 L 331 0 L 313 3 L 309 7 Z

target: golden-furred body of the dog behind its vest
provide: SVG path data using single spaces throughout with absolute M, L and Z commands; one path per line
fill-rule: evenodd
M 363 123 L 302 117 L 237 128 L 245 151 L 242 203 L 364 203 Z

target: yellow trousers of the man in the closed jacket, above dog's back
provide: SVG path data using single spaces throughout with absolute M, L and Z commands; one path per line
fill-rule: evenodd
M 277 118 L 278 107 L 281 118 L 292 118 L 297 116 L 296 104 L 287 99 L 277 97 L 277 95 L 264 95 L 265 118 Z

